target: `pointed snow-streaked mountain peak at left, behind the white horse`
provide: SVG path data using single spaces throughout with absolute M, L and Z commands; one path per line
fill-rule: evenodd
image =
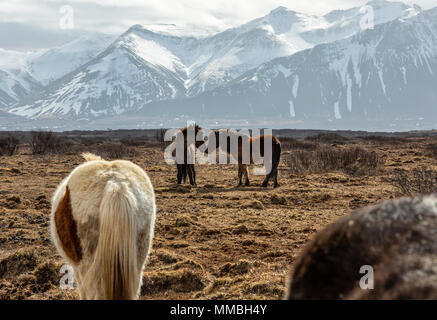
M 175 56 L 130 30 L 96 58 L 23 99 L 10 112 L 82 120 L 120 114 L 154 100 L 184 96 L 183 76 Z

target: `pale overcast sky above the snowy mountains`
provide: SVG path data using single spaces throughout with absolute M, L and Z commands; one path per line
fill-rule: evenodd
M 49 48 L 87 32 L 120 34 L 134 24 L 176 24 L 217 32 L 266 15 L 278 6 L 324 14 L 367 0 L 0 0 L 0 48 Z M 424 9 L 436 0 L 405 0 Z M 67 7 L 65 7 L 67 6 Z M 73 20 L 69 19 L 70 8 Z M 73 21 L 74 25 L 70 22 Z M 73 27 L 73 28 L 70 28 Z

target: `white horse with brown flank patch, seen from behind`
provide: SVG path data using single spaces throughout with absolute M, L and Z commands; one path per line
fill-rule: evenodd
M 83 157 L 53 196 L 52 241 L 80 299 L 136 299 L 153 239 L 153 186 L 132 162 Z

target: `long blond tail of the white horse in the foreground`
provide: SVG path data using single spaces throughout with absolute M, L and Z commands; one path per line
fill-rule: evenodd
M 125 183 L 108 181 L 100 205 L 96 262 L 102 274 L 103 297 L 135 299 L 140 282 L 137 266 L 136 198 Z

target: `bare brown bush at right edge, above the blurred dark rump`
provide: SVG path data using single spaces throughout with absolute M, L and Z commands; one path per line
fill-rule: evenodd
M 437 173 L 430 168 L 414 168 L 410 173 L 397 169 L 392 183 L 402 195 L 430 194 L 437 191 Z

